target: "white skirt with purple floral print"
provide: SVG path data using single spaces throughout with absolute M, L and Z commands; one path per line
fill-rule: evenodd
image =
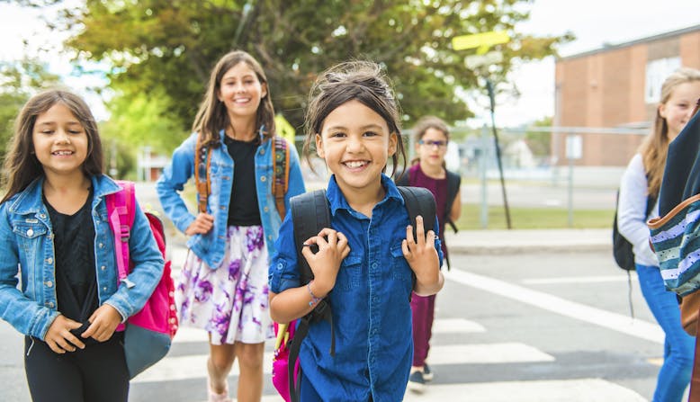
M 261 226 L 229 227 L 218 269 L 187 253 L 175 290 L 180 325 L 206 330 L 211 344 L 259 344 L 273 338 L 268 264 Z

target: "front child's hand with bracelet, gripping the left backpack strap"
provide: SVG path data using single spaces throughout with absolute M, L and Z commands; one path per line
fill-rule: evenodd
M 309 247 L 312 245 L 319 246 L 316 254 Z M 325 297 L 336 285 L 340 263 L 348 254 L 350 246 L 347 244 L 347 237 L 331 228 L 321 229 L 318 236 L 310 237 L 304 242 L 301 255 L 309 262 L 319 298 Z

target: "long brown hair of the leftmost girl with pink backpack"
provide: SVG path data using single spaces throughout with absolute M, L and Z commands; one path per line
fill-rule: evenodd
M 31 97 L 14 121 L 12 144 L 4 159 L 4 202 L 22 192 L 34 179 L 44 174 L 39 159 L 34 154 L 32 134 L 37 117 L 55 104 L 64 104 L 76 117 L 87 135 L 87 156 L 81 166 L 87 177 L 103 174 L 103 150 L 97 122 L 83 99 L 62 89 L 49 89 Z

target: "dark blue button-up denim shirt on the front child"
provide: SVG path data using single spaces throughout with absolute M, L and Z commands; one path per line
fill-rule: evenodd
M 396 185 L 381 176 L 384 199 L 372 219 L 353 210 L 337 187 L 335 176 L 326 196 L 331 226 L 346 235 L 350 254 L 329 293 L 336 336 L 336 356 L 328 353 L 326 321 L 310 326 L 301 344 L 301 370 L 325 401 L 399 401 L 403 398 L 413 358 L 411 337 L 411 269 L 401 251 L 408 212 Z M 437 222 L 435 222 L 437 228 Z M 299 287 L 297 254 L 290 214 L 284 219 L 277 253 L 270 264 L 270 290 Z M 435 238 L 440 251 L 440 240 Z

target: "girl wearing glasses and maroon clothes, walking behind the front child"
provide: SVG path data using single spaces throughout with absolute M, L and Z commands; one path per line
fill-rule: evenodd
M 416 140 L 417 158 L 408 168 L 408 174 L 399 176 L 399 185 L 425 187 L 435 197 L 435 211 L 439 222 L 439 237 L 444 254 L 444 261 L 449 268 L 447 247 L 444 243 L 445 223 L 449 223 L 456 232 L 453 221 L 462 213 L 459 174 L 445 168 L 444 156 L 450 131 L 447 124 L 435 116 L 426 116 L 417 121 L 413 128 Z M 426 363 L 432 336 L 433 317 L 435 313 L 435 295 L 411 297 L 413 311 L 413 364 L 408 378 L 408 389 L 422 392 L 426 381 L 433 380 L 433 371 Z

